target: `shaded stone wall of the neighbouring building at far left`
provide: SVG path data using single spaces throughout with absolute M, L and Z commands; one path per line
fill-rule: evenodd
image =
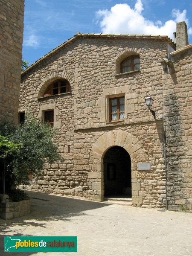
M 18 122 L 24 0 L 0 1 L 0 118 Z

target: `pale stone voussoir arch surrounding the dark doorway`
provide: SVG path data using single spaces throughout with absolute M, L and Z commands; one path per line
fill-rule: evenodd
M 104 200 L 104 169 L 103 169 L 103 158 L 106 151 L 113 146 L 120 146 L 125 148 L 131 157 L 131 172 L 134 174 L 133 177 L 137 176 L 137 163 L 147 162 L 148 155 L 145 153 L 142 144 L 137 140 L 135 136 L 128 133 L 127 131 L 113 130 L 105 132 L 101 135 L 91 148 L 90 152 L 90 173 L 88 177 L 98 177 L 101 182 L 92 182 L 90 189 L 97 189 L 97 195 L 93 195 L 93 200 L 103 201 Z M 137 182 L 135 182 L 136 185 Z M 139 199 L 138 199 L 139 198 Z M 140 200 L 140 201 L 138 201 Z M 141 197 L 132 197 L 134 204 L 142 204 L 143 199 Z

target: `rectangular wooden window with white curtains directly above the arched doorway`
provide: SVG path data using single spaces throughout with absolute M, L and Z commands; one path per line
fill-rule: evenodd
M 122 120 L 125 117 L 125 97 L 110 100 L 110 121 Z

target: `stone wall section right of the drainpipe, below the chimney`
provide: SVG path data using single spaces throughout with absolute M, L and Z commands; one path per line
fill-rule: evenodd
M 172 54 L 163 75 L 168 209 L 192 210 L 192 47 Z

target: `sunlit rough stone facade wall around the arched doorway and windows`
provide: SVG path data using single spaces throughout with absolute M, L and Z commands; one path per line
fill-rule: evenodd
M 140 55 L 140 71 L 117 74 L 119 59 L 130 52 Z M 167 56 L 166 41 L 78 38 L 24 73 L 19 111 L 41 117 L 42 110 L 54 109 L 55 142 L 65 159 L 62 164 L 46 164 L 44 175 L 31 188 L 102 201 L 102 159 L 110 146 L 119 145 L 131 157 L 133 205 L 165 207 L 163 121 L 154 120 L 144 98 L 153 96 L 157 116 L 163 113 L 160 60 Z M 42 98 L 43 90 L 58 78 L 67 79 L 72 92 Z M 108 122 L 110 95 L 125 95 L 124 121 Z M 100 148 L 93 150 L 105 135 Z M 151 170 L 138 171 L 140 162 L 151 163 Z

